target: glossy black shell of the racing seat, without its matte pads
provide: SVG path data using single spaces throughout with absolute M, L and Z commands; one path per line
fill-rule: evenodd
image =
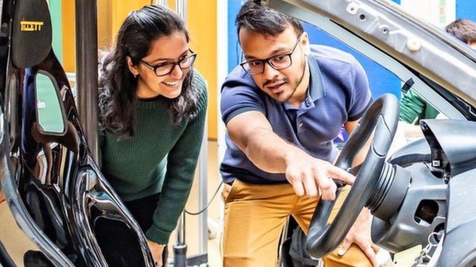
M 44 0 L 35 1 L 46 5 Z M 12 10 L 18 3 L 4 1 L 2 29 L 8 26 L 8 31 L 2 34 L 11 35 Z M 17 233 L 26 236 L 34 249 L 25 248 L 22 255 L 15 255 L 14 263 L 8 263 L 2 255 L 8 255 L 12 246 L 4 244 L 2 264 L 108 266 L 95 236 L 101 218 L 119 221 L 137 236 L 137 242 L 130 244 L 138 247 L 140 260 L 135 266 L 153 266 L 139 225 L 92 160 L 69 82 L 53 50 L 39 64 L 18 69 L 10 61 L 10 40 L 2 35 L 0 41 L 0 81 L 4 82 L 0 85 L 0 205 L 8 205 L 0 211 L 11 215 L 0 214 L 0 225 L 13 216 L 21 229 Z M 37 125 L 35 75 L 39 71 L 51 74 L 58 86 L 67 126 L 63 136 L 41 133 Z M 15 242 L 2 239 L 3 233 L 0 242 Z

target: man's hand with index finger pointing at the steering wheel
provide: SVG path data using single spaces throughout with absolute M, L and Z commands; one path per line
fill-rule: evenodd
M 337 185 L 332 180 L 339 179 L 353 184 L 355 177 L 325 160 L 313 158 L 303 151 L 286 155 L 286 179 L 293 185 L 296 195 L 317 197 L 320 190 L 321 199 L 334 200 Z

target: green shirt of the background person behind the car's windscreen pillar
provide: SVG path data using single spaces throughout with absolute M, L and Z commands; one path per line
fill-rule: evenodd
M 439 111 L 421 99 L 412 89 L 400 100 L 400 121 L 418 125 L 421 119 L 435 119 Z

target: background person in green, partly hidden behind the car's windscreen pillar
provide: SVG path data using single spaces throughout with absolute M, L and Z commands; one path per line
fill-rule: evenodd
M 476 23 L 474 21 L 456 19 L 445 27 L 445 31 L 476 49 Z M 403 122 L 405 137 L 421 137 L 420 120 L 435 119 L 438 114 L 438 110 L 419 97 L 412 89 L 408 90 L 400 101 L 400 121 Z

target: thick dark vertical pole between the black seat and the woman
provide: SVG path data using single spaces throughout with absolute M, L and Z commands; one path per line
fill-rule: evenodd
M 79 120 L 98 162 L 98 19 L 96 0 L 76 0 L 76 90 Z

